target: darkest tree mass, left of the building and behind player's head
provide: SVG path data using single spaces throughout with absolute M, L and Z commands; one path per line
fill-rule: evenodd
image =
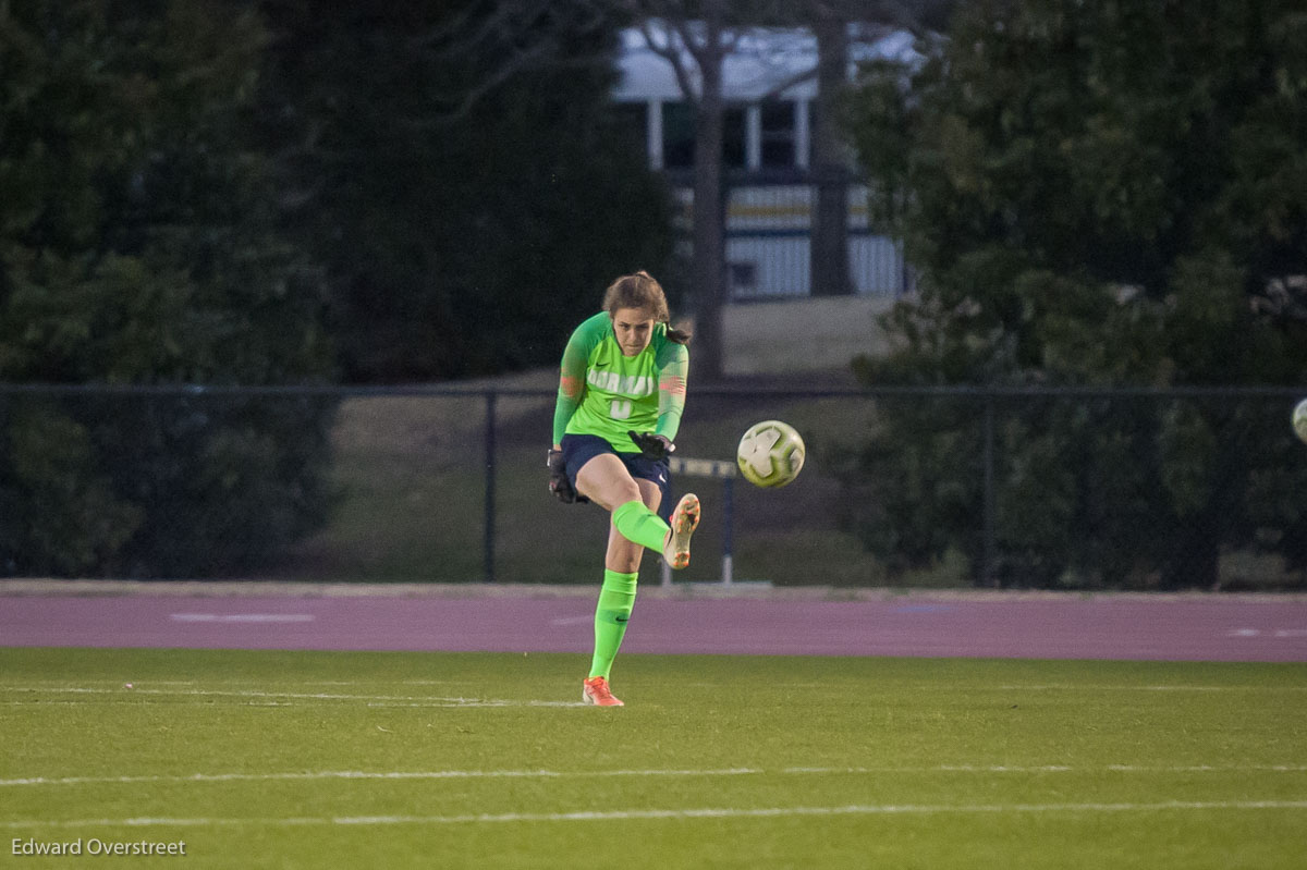
M 264 123 L 346 380 L 557 364 L 613 278 L 661 274 L 669 192 L 609 101 L 600 7 L 264 7 Z

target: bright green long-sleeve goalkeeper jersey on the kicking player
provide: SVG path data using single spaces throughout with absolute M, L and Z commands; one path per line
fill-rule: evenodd
M 630 431 L 673 440 L 681 427 L 689 367 L 689 351 L 667 337 L 667 324 L 655 324 L 648 346 L 627 357 L 608 312 L 589 317 L 563 350 L 554 444 L 563 435 L 599 435 L 614 451 L 634 453 Z

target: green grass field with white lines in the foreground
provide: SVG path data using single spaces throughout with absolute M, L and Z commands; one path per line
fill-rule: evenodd
M 0 649 L 0 827 L 193 867 L 1302 867 L 1307 668 Z M 127 688 L 125 683 L 132 687 Z M 184 863 L 176 863 L 184 862 Z M 90 861 L 94 863 L 94 861 Z

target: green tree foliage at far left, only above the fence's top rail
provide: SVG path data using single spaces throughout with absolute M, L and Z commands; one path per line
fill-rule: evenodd
M 248 123 L 257 16 L 122 5 L 0 10 L 0 378 L 322 378 L 322 299 Z

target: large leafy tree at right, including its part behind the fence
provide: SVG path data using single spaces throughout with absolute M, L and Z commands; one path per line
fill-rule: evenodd
M 982 0 L 921 47 L 847 106 L 920 286 L 865 383 L 1307 384 L 1300 3 Z M 1302 571 L 1289 405 L 999 401 L 983 577 L 983 405 L 884 402 L 852 523 L 903 568 L 962 551 L 979 583 L 1213 587 L 1234 550 Z

